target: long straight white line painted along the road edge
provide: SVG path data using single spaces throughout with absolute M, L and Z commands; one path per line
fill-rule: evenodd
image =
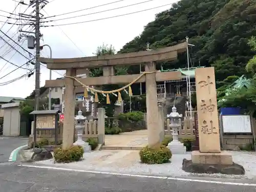
M 38 165 L 24 165 L 24 164 L 20 164 L 18 166 L 34 167 L 34 168 L 47 168 L 47 169 L 55 169 L 55 170 L 66 170 L 66 171 L 82 172 L 82 173 L 94 173 L 94 174 L 106 174 L 106 175 L 115 175 L 115 176 L 126 176 L 126 177 L 169 179 L 169 180 L 176 180 L 176 181 L 212 183 L 212 184 L 223 184 L 223 185 L 237 185 L 237 186 L 256 186 L 256 184 L 253 184 L 253 183 L 235 183 L 235 182 L 221 182 L 221 181 L 200 180 L 200 179 L 185 179 L 185 178 L 177 178 L 177 177 L 161 177 L 161 176 L 119 174 L 119 173 L 111 173 L 111 172 L 97 172 L 97 171 L 92 171 L 92 170 L 80 170 L 80 169 L 61 168 L 61 167 L 53 167 L 53 166 L 38 166 Z

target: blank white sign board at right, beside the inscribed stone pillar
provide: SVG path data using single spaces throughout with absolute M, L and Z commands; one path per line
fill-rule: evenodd
M 223 133 L 251 133 L 249 115 L 222 116 Z

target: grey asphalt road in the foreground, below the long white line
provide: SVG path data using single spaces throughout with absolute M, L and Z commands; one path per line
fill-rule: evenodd
M 15 163 L 0 163 L 0 186 L 6 192 L 255 192 L 255 186 L 67 172 Z

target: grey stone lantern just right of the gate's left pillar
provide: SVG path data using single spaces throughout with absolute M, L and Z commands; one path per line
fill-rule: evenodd
M 83 130 L 84 130 L 84 121 L 86 120 L 86 117 L 82 115 L 82 111 L 78 111 L 78 115 L 75 116 L 75 129 L 77 133 L 77 141 L 74 142 L 74 145 L 79 145 L 83 147 L 84 152 L 90 152 L 91 146 L 88 142 L 84 142 L 82 140 Z

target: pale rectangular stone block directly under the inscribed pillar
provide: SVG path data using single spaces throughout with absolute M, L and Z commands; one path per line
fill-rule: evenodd
M 233 164 L 231 154 L 226 151 L 222 151 L 221 153 L 200 153 L 199 151 L 193 151 L 191 152 L 191 160 L 196 164 Z

